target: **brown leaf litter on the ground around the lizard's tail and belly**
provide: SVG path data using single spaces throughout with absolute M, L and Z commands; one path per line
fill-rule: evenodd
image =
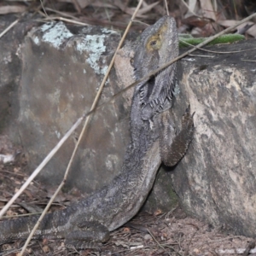
M 7 147 L 8 148 L 8 147 Z M 13 148 L 15 150 L 15 148 Z M 15 190 L 27 179 L 25 174 L 26 158 L 24 154 L 14 163 L 0 165 L 0 207 L 15 194 Z M 33 181 L 25 193 L 10 207 L 7 216 L 42 212 L 44 206 L 55 191 L 42 183 Z M 55 199 L 50 211 L 61 210 L 83 195 L 73 189 L 70 193 L 61 193 Z M 213 228 L 195 218 L 188 217 L 180 207 L 172 212 L 160 211 L 150 214 L 139 212 L 130 223 L 111 232 L 110 240 L 103 244 L 101 251 L 87 249 L 80 251 L 80 255 L 242 255 L 253 238 L 233 236 L 224 227 Z M 22 241 L 2 246 L 3 254 L 18 255 Z M 238 251 L 236 251 L 238 250 Z M 1 251 L 0 251 L 1 252 Z M 78 252 L 68 250 L 64 240 L 43 239 L 32 241 L 26 250 L 27 255 L 79 255 Z

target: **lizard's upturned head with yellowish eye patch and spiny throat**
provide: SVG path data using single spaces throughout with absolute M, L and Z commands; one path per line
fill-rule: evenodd
M 165 16 L 153 26 L 148 26 L 141 35 L 134 57 L 136 79 L 142 79 L 148 73 L 171 61 L 178 55 L 178 39 L 175 20 Z M 176 64 L 161 70 L 154 77 L 137 85 L 140 95 L 142 119 L 152 119 L 165 106 L 172 104 L 172 94 L 176 84 Z M 170 108 L 170 107 L 169 107 Z

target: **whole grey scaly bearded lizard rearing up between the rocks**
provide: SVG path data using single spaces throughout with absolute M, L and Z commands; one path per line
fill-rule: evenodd
M 136 79 L 142 79 L 178 55 L 175 20 L 165 16 L 143 32 L 135 54 Z M 135 88 L 131 105 L 131 143 L 126 148 L 121 174 L 108 186 L 64 210 L 49 213 L 33 238 L 65 238 L 67 247 L 96 247 L 108 241 L 109 231 L 134 217 L 152 189 L 162 160 L 175 165 L 193 136 L 193 117 L 183 115 L 175 135 L 170 110 L 176 83 L 176 64 Z M 162 150 L 160 150 L 162 148 Z M 25 239 L 38 216 L 0 223 L 0 244 Z

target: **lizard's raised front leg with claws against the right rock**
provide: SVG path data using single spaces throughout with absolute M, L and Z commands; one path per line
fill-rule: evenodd
M 160 114 L 160 155 L 166 166 L 175 166 L 189 148 L 195 130 L 190 108 L 186 109 L 182 119 L 182 129 L 176 135 L 172 109 Z

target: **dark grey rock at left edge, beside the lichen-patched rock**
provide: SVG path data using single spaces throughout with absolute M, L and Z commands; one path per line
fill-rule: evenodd
M 16 15 L 0 15 L 1 32 L 17 19 Z M 17 139 L 15 119 L 19 113 L 18 89 L 21 63 L 18 57 L 20 44 L 37 21 L 20 21 L 0 40 L 0 134 Z

